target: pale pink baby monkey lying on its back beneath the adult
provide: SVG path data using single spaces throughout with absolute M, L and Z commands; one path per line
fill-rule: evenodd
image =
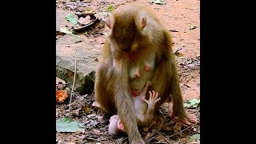
M 158 98 L 158 92 L 152 90 L 152 92 L 149 91 L 149 100 L 146 100 L 146 91 L 149 86 L 150 82 L 146 82 L 146 86 L 144 86 L 142 93 L 137 97 L 132 97 L 134 114 L 136 115 L 136 120 L 139 127 L 150 126 L 150 123 L 154 118 L 155 103 L 161 99 Z M 117 138 L 118 134 L 120 133 L 126 133 L 121 120 L 118 118 L 118 115 L 113 115 L 110 118 L 108 132 L 112 138 Z

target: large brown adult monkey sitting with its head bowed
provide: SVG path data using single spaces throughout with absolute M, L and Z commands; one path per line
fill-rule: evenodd
M 112 114 L 118 113 L 130 143 L 145 143 L 138 131 L 132 96 L 140 94 L 146 82 L 158 91 L 163 102 L 173 102 L 171 118 L 196 122 L 187 116 L 179 86 L 178 67 L 169 30 L 153 13 L 138 4 L 114 10 L 106 25 L 111 29 L 96 70 L 96 101 Z M 147 96 L 148 98 L 148 96 Z

